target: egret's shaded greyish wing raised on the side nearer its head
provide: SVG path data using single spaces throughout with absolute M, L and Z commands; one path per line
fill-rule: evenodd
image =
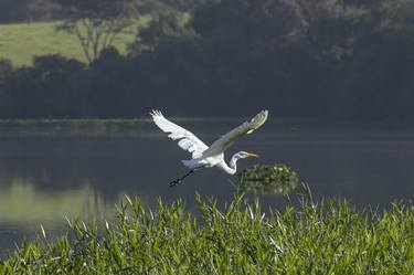
M 215 156 L 222 154 L 231 145 L 234 144 L 238 138 L 244 135 L 248 135 L 258 127 L 261 127 L 267 119 L 267 109 L 262 110 L 250 121 L 245 121 L 233 130 L 229 131 L 217 140 L 215 140 L 208 150 L 204 151 L 203 156 Z

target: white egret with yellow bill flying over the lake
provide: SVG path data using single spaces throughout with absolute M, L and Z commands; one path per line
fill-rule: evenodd
M 233 130 L 229 131 L 217 140 L 215 140 L 210 147 L 203 141 L 197 138 L 191 131 L 171 123 L 163 117 L 161 112 L 152 110 L 150 113 L 153 123 L 164 133 L 169 133 L 169 138 L 177 140 L 178 145 L 189 152 L 192 152 L 192 159 L 182 160 L 182 163 L 190 168 L 190 171 L 183 177 L 170 182 L 170 187 L 180 183 L 184 178 L 193 173 L 195 170 L 201 168 L 219 167 L 223 171 L 230 174 L 234 174 L 237 170 L 236 162 L 238 159 L 245 159 L 250 157 L 258 157 L 255 154 L 240 151 L 233 155 L 230 163 L 224 161 L 224 151 L 234 144 L 238 138 L 244 135 L 248 135 L 258 127 L 261 127 L 267 119 L 267 110 L 262 110 L 250 121 L 245 121 Z

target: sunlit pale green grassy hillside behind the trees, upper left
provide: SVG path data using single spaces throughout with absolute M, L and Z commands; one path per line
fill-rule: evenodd
M 0 24 L 0 59 L 9 59 L 14 66 L 30 65 L 33 56 L 62 54 L 86 61 L 74 35 L 57 32 L 59 22 Z M 134 31 L 119 34 L 115 46 L 125 52 L 126 44 L 134 40 Z

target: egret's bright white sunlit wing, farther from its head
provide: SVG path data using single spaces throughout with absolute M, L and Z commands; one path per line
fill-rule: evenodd
M 164 133 L 170 133 L 168 135 L 169 138 L 172 140 L 177 140 L 178 145 L 189 152 L 192 152 L 192 158 L 200 158 L 205 149 L 209 147 L 201 141 L 198 137 L 195 137 L 191 131 L 185 130 L 181 126 L 178 126 L 174 123 L 168 120 L 161 112 L 152 110 L 149 113 L 152 116 L 153 123 Z

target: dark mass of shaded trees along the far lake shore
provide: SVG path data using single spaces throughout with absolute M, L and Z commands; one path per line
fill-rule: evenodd
M 414 118 L 410 0 L 163 1 L 127 56 L 0 62 L 0 116 Z M 177 7 L 178 9 L 167 9 Z M 183 20 L 182 11 L 191 11 Z

